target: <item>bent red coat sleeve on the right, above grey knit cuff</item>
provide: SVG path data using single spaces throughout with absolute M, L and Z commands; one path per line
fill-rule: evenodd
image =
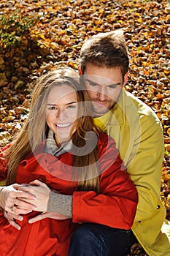
M 94 222 L 128 230 L 136 214 L 138 195 L 134 183 L 125 171 L 115 141 L 101 135 L 98 143 L 100 192 L 73 193 L 73 222 Z M 103 142 L 104 140 L 104 142 Z

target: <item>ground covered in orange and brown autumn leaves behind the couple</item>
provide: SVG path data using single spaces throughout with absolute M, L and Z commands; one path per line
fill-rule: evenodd
M 126 89 L 163 125 L 161 198 L 170 219 L 169 1 L 0 0 L 0 146 L 27 118 L 34 80 L 59 66 L 77 69 L 90 35 L 124 29 L 131 66 Z M 130 255 L 146 255 L 135 244 Z

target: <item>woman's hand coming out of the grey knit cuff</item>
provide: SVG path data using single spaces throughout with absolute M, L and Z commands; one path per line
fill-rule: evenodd
M 47 203 L 50 197 L 50 189 L 45 183 L 42 183 L 39 180 L 35 180 L 30 182 L 28 186 L 21 185 L 18 190 L 20 190 L 20 192 L 27 192 L 31 195 L 36 196 L 36 200 L 24 199 L 24 201 L 34 204 L 34 206 L 36 206 L 36 211 L 47 211 Z

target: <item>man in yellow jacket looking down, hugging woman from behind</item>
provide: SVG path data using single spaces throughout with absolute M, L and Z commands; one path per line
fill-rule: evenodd
M 160 198 L 163 130 L 155 113 L 123 89 L 128 64 L 122 30 L 97 34 L 82 45 L 79 72 L 93 102 L 95 124 L 115 139 L 139 194 L 131 230 L 148 255 L 169 256 L 170 222 Z

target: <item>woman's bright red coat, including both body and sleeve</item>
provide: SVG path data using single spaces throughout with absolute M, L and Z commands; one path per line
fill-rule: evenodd
M 44 148 L 42 144 L 38 151 L 20 162 L 16 183 L 39 179 L 51 189 L 73 195 L 72 219 L 47 218 L 28 224 L 28 219 L 39 214 L 34 211 L 23 216 L 23 222 L 18 222 L 21 230 L 16 230 L 0 214 L 1 256 L 66 256 L 72 232 L 80 222 L 96 222 L 126 230 L 131 228 L 138 196 L 112 139 L 108 140 L 103 133 L 98 139 L 99 195 L 93 191 L 76 191 L 72 182 L 72 154 L 67 152 L 55 157 L 44 153 Z M 1 180 L 4 176 L 4 166 L 0 161 Z

